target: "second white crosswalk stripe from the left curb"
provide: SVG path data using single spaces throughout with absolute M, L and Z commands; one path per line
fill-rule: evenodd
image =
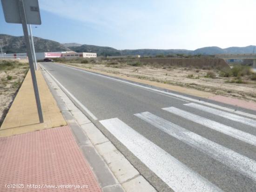
M 255 160 L 249 159 L 152 113 L 137 113 L 135 116 L 256 181 Z

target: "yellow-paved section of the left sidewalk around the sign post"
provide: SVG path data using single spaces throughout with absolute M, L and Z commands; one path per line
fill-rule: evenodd
M 40 71 L 36 77 L 44 123 L 39 122 L 29 71 L 0 127 L 0 137 L 67 125 Z

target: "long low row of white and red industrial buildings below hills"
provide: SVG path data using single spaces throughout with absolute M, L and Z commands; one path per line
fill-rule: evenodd
M 35 53 L 36 60 L 44 60 L 45 58 L 65 58 L 65 59 L 75 59 L 75 58 L 92 58 L 97 57 L 97 53 L 76 53 L 74 51 L 70 52 L 41 52 Z M 0 54 L 0 59 L 27 59 L 27 53 L 4 53 Z

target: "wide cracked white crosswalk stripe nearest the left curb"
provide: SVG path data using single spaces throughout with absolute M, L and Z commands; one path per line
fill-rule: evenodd
M 152 172 L 176 192 L 216 192 L 216 185 L 182 164 L 118 118 L 100 121 Z

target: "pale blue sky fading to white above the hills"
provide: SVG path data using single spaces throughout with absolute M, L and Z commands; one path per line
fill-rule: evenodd
M 256 45 L 256 0 L 39 0 L 33 35 L 117 49 Z M 20 36 L 4 20 L 0 33 Z

